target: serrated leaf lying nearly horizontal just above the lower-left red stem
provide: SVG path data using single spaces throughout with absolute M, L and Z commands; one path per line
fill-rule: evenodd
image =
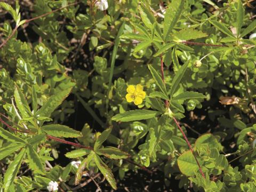
M 65 138 L 76 138 L 81 137 L 82 134 L 79 131 L 71 129 L 68 126 L 60 125 L 60 124 L 52 124 L 42 126 L 41 129 L 54 137 L 65 137 Z

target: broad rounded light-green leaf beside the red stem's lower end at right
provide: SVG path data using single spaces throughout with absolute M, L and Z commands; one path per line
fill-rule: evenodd
M 198 165 L 196 163 L 195 157 L 193 156 L 190 150 L 186 151 L 185 153 L 181 154 L 181 156 L 179 156 L 178 166 L 180 172 L 188 177 L 194 175 L 194 171 L 198 170 Z

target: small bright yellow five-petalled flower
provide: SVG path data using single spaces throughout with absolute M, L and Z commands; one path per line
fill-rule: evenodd
M 140 105 L 142 103 L 142 99 L 145 99 L 146 93 L 143 91 L 143 86 L 140 84 L 136 85 L 129 85 L 126 89 L 127 94 L 125 98 L 127 102 L 134 102 L 135 105 Z

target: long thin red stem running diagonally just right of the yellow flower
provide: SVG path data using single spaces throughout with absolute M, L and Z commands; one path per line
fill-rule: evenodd
M 163 82 L 165 83 L 165 81 L 164 81 L 164 61 L 163 61 L 162 54 L 160 55 L 160 58 L 161 58 L 161 74 L 162 74 L 162 80 L 163 80 Z M 169 102 L 168 102 L 167 100 L 165 100 L 165 107 L 166 107 L 166 108 L 169 107 Z M 201 166 L 200 166 L 200 164 L 199 164 L 199 162 L 198 162 L 198 160 L 197 160 L 197 158 L 196 158 L 196 155 L 195 155 L 195 153 L 194 153 L 194 150 L 193 150 L 193 148 L 191 147 L 191 145 L 190 145 L 190 143 L 189 143 L 189 141 L 188 141 L 188 138 L 187 138 L 186 134 L 185 134 L 185 133 L 183 132 L 183 130 L 181 129 L 181 127 L 180 127 L 178 121 L 175 119 L 175 117 L 173 117 L 173 120 L 174 120 L 174 122 L 176 123 L 176 125 L 179 127 L 179 130 L 180 130 L 180 132 L 182 133 L 184 139 L 186 140 L 187 145 L 188 145 L 190 151 L 192 152 L 193 156 L 194 156 L 195 159 L 196 159 L 196 163 L 197 163 L 197 165 L 198 165 L 198 167 L 199 167 L 199 171 L 200 171 L 200 173 L 202 174 L 203 178 L 205 179 L 205 176 L 204 176 L 204 173 L 203 173 L 203 171 L 202 171 L 202 168 L 201 168 Z

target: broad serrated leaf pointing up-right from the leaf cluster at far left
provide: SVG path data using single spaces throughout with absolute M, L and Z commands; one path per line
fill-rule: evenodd
M 52 95 L 35 114 L 35 116 L 50 117 L 51 113 L 65 100 L 72 87 Z

